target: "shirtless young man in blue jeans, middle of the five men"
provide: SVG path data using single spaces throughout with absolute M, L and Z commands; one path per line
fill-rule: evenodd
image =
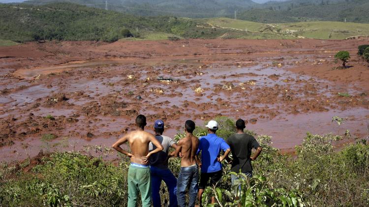
M 178 157 L 182 154 L 181 171 L 177 179 L 177 201 L 179 207 L 185 207 L 185 190 L 189 183 L 189 200 L 188 207 L 194 207 L 196 195 L 198 191 L 199 168 L 197 166 L 197 148 L 199 147 L 199 139 L 192 132 L 195 129 L 195 122 L 186 120 L 184 131 L 186 136 L 178 141 L 177 149 L 174 156 Z

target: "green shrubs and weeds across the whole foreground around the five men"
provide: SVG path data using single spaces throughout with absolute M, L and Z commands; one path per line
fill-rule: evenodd
M 216 120 L 222 130 L 218 130 L 218 135 L 227 140 L 234 133 L 234 121 L 226 117 Z M 333 118 L 337 120 L 341 122 L 340 118 Z M 204 128 L 197 127 L 196 133 L 198 137 L 205 135 Z M 273 148 L 270 136 L 248 133 L 253 134 L 263 148 L 260 156 L 252 161 L 253 177 L 230 173 L 231 166 L 224 161 L 220 185 L 205 189 L 204 206 L 212 196 L 216 197 L 217 206 L 229 207 L 239 204 L 250 207 L 369 205 L 369 145 L 365 139 L 357 139 L 356 143 L 337 150 L 334 146 L 343 137 L 307 133 L 302 145 L 296 147 L 296 157 L 292 157 Z M 180 133 L 175 139 L 183 137 Z M 129 158 L 125 156 L 116 166 L 104 161 L 101 154 L 92 157 L 80 152 L 45 156 L 30 173 L 5 164 L 0 168 L 1 204 L 9 207 L 30 203 L 32 206 L 126 206 L 128 166 Z M 169 167 L 178 176 L 181 160 L 170 159 Z M 232 174 L 245 179 L 239 179 L 232 186 Z M 239 184 L 242 191 L 236 198 Z M 169 196 L 166 191 L 160 194 L 162 198 Z

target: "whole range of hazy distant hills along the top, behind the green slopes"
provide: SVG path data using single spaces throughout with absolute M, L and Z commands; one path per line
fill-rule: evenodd
M 69 0 L 30 0 L 28 3 Z M 265 2 L 265 0 L 255 0 Z M 105 0 L 73 0 L 95 8 L 105 8 Z M 140 16 L 189 18 L 229 17 L 261 22 L 338 21 L 369 23 L 369 0 L 286 0 L 263 4 L 252 0 L 108 0 L 108 9 Z

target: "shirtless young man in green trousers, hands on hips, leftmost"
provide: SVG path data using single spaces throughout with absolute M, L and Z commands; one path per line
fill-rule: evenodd
M 145 132 L 146 117 L 138 115 L 136 118 L 137 129 L 125 134 L 112 146 L 117 151 L 131 158 L 128 170 L 128 207 L 136 207 L 138 193 L 141 193 L 143 207 L 151 207 L 151 180 L 149 158 L 152 154 L 163 150 L 163 146 L 154 135 Z M 128 142 L 132 153 L 127 152 L 120 146 Z M 149 152 L 149 143 L 156 147 Z

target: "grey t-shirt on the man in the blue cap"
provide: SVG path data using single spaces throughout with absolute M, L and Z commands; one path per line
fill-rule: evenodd
M 168 152 L 169 148 L 175 144 L 174 140 L 170 137 L 161 135 L 161 136 L 155 136 L 155 138 L 160 142 L 160 144 L 163 146 L 163 150 L 159 151 L 157 153 L 154 153 L 150 156 L 149 163 L 151 166 L 157 167 L 157 168 L 168 168 Z M 153 143 L 150 142 L 149 144 L 149 151 L 153 151 L 156 149 L 156 147 L 153 145 Z

